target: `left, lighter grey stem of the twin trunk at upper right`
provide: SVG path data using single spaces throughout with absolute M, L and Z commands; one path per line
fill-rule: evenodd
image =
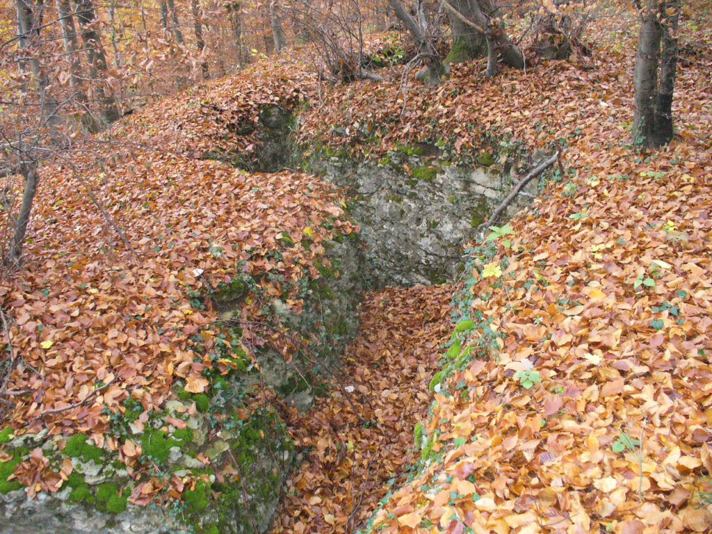
M 662 28 L 656 15 L 657 0 L 646 0 L 640 25 L 638 51 L 635 57 L 633 85 L 635 112 L 633 115 L 633 144 L 654 147 L 655 96 L 660 63 Z

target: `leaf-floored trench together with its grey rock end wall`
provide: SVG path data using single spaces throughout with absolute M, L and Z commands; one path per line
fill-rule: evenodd
M 363 247 L 336 254 L 342 282 L 329 288 L 335 304 L 328 315 L 350 327 L 338 328 L 335 339 L 327 328 L 323 341 L 337 349 L 317 364 L 285 366 L 279 357 L 262 364 L 281 389 L 280 414 L 296 452 L 280 467 L 286 472 L 266 511 L 271 520 L 244 531 L 355 533 L 422 461 L 417 428 L 426 424 L 434 400 L 428 384 L 451 335 L 464 246 L 481 237 L 477 227 L 512 181 L 487 164 L 451 164 L 426 144 L 399 147 L 377 162 L 328 150 L 303 159 L 290 142 L 288 112 L 266 110 L 261 119 L 259 157 L 231 162 L 259 172 L 297 168 L 346 189 Z

